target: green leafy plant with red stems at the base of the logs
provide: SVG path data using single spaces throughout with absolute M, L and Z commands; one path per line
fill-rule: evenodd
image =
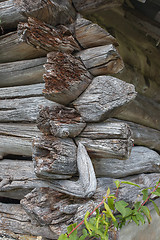
M 143 202 L 136 201 L 132 207 L 129 207 L 129 204 L 123 200 L 118 201 L 118 190 L 121 184 L 130 184 L 136 187 L 140 186 L 129 181 L 120 182 L 118 180 L 115 181 L 115 184 L 117 188 L 115 194 L 111 194 L 108 188 L 102 202 L 91 213 L 87 211 L 82 222 L 68 226 L 67 233 L 61 234 L 58 240 L 85 240 L 86 238 L 108 240 L 109 232 L 116 232 L 130 222 L 135 222 L 139 226 L 140 224 L 145 224 L 145 219 L 147 219 L 150 224 L 152 217 L 150 210 L 145 206 L 148 201 L 153 204 L 155 211 L 160 216 L 160 209 L 156 203 L 150 199 L 152 195 L 160 197 L 160 180 L 156 183 L 153 190 L 152 188 L 143 189 L 141 191 L 143 194 Z M 151 191 L 150 194 L 148 190 Z M 103 206 L 102 211 L 99 210 L 100 206 Z M 91 217 L 94 212 L 96 215 Z M 82 224 L 84 224 L 84 228 L 81 234 L 79 234 L 77 228 Z

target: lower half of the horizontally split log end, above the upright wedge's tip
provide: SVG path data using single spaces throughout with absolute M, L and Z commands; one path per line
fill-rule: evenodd
M 97 139 L 76 138 L 87 149 L 91 158 L 117 158 L 127 159 L 130 156 L 133 146 L 131 136 L 128 139 Z M 97 160 L 98 161 L 98 160 Z

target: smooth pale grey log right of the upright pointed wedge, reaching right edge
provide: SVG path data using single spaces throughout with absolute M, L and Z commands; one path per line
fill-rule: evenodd
M 146 147 L 133 147 L 125 161 L 109 158 L 92 158 L 97 176 L 122 178 L 140 173 L 160 173 L 160 155 Z

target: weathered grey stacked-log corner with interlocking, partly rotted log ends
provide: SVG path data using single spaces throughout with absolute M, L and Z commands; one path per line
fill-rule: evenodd
M 140 184 L 119 191 L 133 204 L 160 178 L 159 105 L 134 100 L 135 87 L 116 75 L 116 39 L 78 13 L 120 4 L 0 3 L 12 9 L 12 19 L 0 10 L 4 32 L 14 30 L 0 37 L 0 230 L 57 239 L 115 192 L 116 179 Z

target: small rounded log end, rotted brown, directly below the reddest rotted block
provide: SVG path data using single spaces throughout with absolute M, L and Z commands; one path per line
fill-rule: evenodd
M 74 108 L 64 106 L 42 107 L 37 117 L 37 127 L 44 134 L 55 137 L 76 137 L 86 123 Z

